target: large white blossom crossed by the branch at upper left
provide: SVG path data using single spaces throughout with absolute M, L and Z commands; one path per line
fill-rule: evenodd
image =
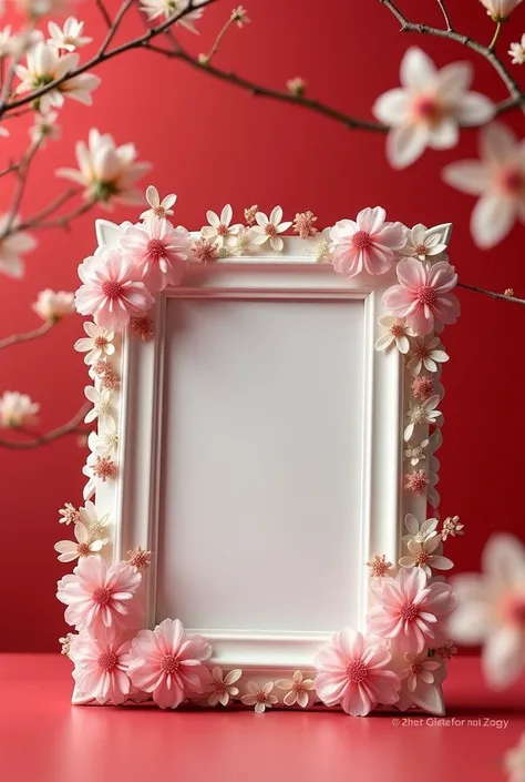
M 28 52 L 27 64 L 16 65 L 14 71 L 20 79 L 16 93 L 32 92 L 44 84 L 61 79 L 79 67 L 78 54 L 59 54 L 56 49 L 40 42 Z M 94 73 L 80 73 L 63 81 L 54 90 L 50 90 L 38 99 L 39 109 L 44 113 L 50 109 L 60 109 L 65 98 L 72 98 L 80 103 L 91 105 L 91 93 L 101 80 Z

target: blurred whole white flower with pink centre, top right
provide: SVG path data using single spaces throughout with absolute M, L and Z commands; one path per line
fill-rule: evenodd
M 469 62 L 436 70 L 418 47 L 401 62 L 401 88 L 389 90 L 374 103 L 374 115 L 391 126 L 387 156 L 395 169 L 413 163 L 431 146 L 455 146 L 459 125 L 482 125 L 494 116 L 494 104 L 478 92 L 467 92 L 473 78 Z

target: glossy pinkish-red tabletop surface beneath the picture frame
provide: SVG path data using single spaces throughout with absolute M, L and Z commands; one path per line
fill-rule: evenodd
M 163 712 L 70 704 L 60 656 L 0 656 L 0 780 L 498 782 L 525 731 L 525 683 L 483 685 L 476 658 L 450 666 L 447 722 L 333 712 Z M 406 724 L 409 722 L 409 724 Z

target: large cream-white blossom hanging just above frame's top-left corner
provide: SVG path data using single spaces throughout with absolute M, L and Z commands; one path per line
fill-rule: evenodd
M 92 128 L 89 144 L 79 141 L 75 153 L 80 171 L 59 169 L 56 175 L 83 185 L 84 197 L 97 201 L 109 209 L 112 207 L 113 201 L 142 204 L 142 194 L 134 183 L 150 171 L 151 164 L 135 162 L 137 152 L 134 144 L 116 146 L 109 133 L 101 134 Z

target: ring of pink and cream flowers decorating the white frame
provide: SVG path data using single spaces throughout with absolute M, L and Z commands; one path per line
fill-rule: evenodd
M 344 629 L 321 646 L 311 669 L 291 678 L 254 681 L 240 669 L 210 667 L 212 644 L 188 636 L 179 619 L 165 619 L 144 629 L 140 590 L 152 552 L 136 547 L 127 559 L 112 565 L 104 558 L 111 540 L 109 516 L 99 517 L 92 501 L 101 483 L 117 474 L 120 341 L 123 329 L 141 339 L 153 335 L 151 308 L 167 285 L 178 285 L 189 263 L 209 263 L 228 255 L 257 252 L 268 242 L 274 252 L 285 247 L 282 234 L 292 230 L 309 238 L 308 251 L 347 277 L 382 275 L 395 268 L 398 283 L 383 294 L 388 315 L 380 318 L 379 352 L 398 351 L 403 357 L 412 392 L 404 428 L 405 483 L 409 492 L 425 495 L 434 509 L 442 423 L 441 365 L 449 356 L 441 344 L 443 326 L 454 323 L 460 307 L 453 288 L 455 270 L 446 255 L 446 236 L 439 228 L 412 230 L 387 221 L 383 209 L 364 209 L 356 220 L 341 220 L 319 231 L 311 212 L 284 221 L 280 206 L 269 216 L 256 205 L 244 212 L 244 224 L 233 223 L 233 210 L 208 211 L 208 225 L 192 241 L 169 217 L 176 196 L 161 200 L 147 189 L 150 209 L 137 224 L 119 228 L 119 245 L 101 246 L 79 266 L 82 285 L 75 294 L 79 312 L 91 315 L 85 336 L 75 349 L 84 354 L 94 385 L 86 386 L 92 404 L 85 423 L 97 422 L 89 436 L 84 474 L 84 506 L 66 504 L 60 521 L 72 526 L 74 540 L 55 549 L 63 562 L 75 561 L 73 573 L 58 585 L 65 621 L 75 633 L 62 641 L 62 652 L 74 663 L 79 693 L 99 703 L 121 704 L 152 699 L 161 708 L 184 702 L 227 707 L 237 702 L 260 713 L 274 705 L 308 708 L 339 705 L 352 715 L 366 715 L 378 705 L 433 713 L 444 711 L 441 684 L 446 661 L 455 653 L 449 639 L 449 617 L 456 598 L 444 578 L 453 562 L 443 542 L 463 534 L 459 517 L 419 521 L 406 515 L 405 554 L 398 566 L 387 555 L 374 555 L 371 608 L 364 634 Z M 429 434 L 429 427 L 432 431 Z

